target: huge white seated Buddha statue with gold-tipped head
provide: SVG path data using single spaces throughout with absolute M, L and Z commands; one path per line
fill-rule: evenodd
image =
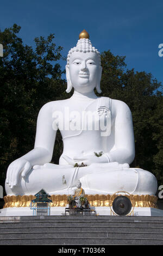
M 94 92 L 101 93 L 101 74 L 100 54 L 84 32 L 67 57 L 66 92 L 73 87 L 74 94 L 41 108 L 34 149 L 8 167 L 8 196 L 34 195 L 42 188 L 51 195 L 70 194 L 78 180 L 86 194 L 155 194 L 155 176 L 129 168 L 135 156 L 129 107 Z M 52 164 L 57 129 L 64 150 L 59 164 Z

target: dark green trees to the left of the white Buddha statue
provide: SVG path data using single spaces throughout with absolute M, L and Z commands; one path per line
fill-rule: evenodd
M 65 81 L 61 78 L 64 71 L 58 63 L 62 47 L 54 44 L 54 34 L 46 39 L 35 38 L 34 49 L 18 38 L 20 29 L 14 24 L 0 31 L 4 49 L 4 57 L 0 58 L 0 183 L 3 185 L 9 163 L 34 147 L 39 109 L 65 91 Z

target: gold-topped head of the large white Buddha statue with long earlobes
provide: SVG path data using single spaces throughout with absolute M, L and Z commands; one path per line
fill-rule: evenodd
M 101 74 L 100 54 L 95 47 L 92 47 L 89 34 L 84 30 L 79 35 L 77 46 L 68 52 L 66 92 L 71 92 L 73 87 L 79 93 L 90 93 L 94 88 L 101 93 Z

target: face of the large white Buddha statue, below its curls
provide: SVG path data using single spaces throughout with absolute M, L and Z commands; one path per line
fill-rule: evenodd
M 95 52 L 72 52 L 69 62 L 70 80 L 79 93 L 92 92 L 101 79 L 102 68 Z

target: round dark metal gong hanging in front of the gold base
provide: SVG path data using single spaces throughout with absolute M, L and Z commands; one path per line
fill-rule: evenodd
M 112 203 L 112 209 L 117 215 L 127 215 L 131 208 L 131 201 L 126 196 L 117 196 Z

